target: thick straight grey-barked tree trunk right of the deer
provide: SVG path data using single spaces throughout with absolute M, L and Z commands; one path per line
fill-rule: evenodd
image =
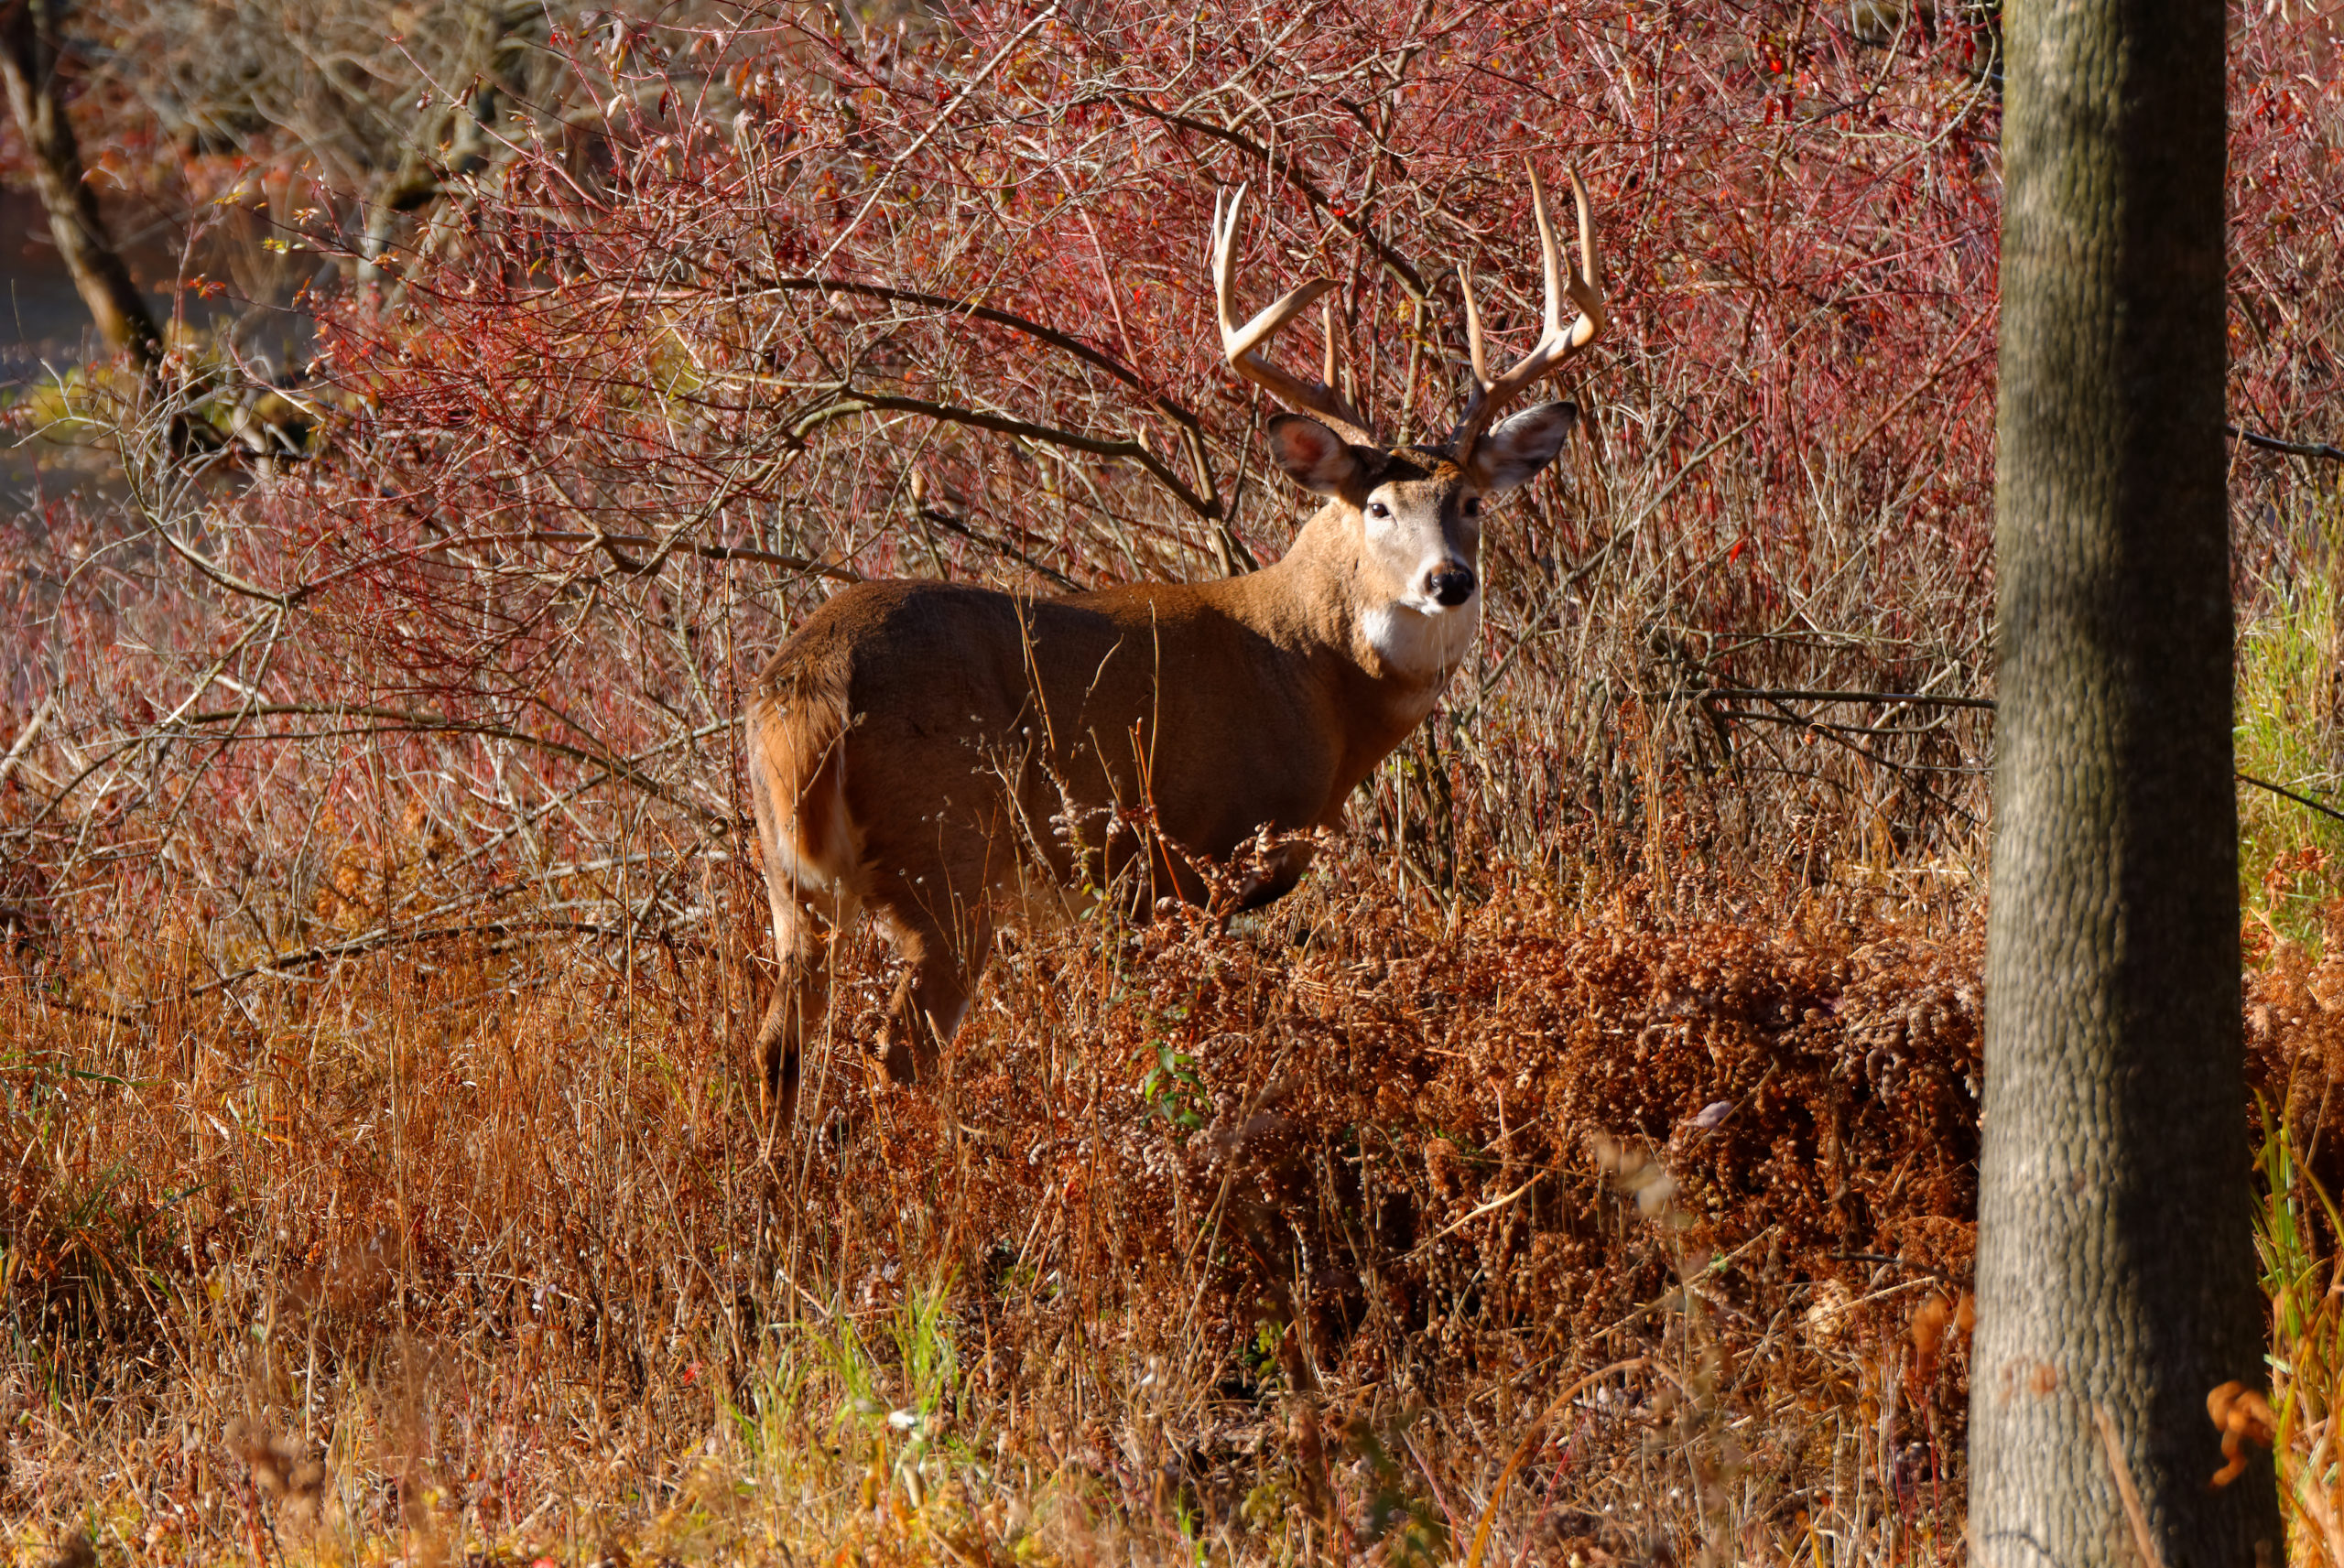
M 2239 1041 L 2222 0 L 2013 0 L 1971 1530 L 1997 1568 L 2276 1563 Z

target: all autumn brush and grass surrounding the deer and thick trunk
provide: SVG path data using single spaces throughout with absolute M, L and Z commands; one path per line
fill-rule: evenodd
M 157 347 L 14 359 L 23 1554 L 1962 1554 L 1992 7 L 38 16 Z M 1535 333 L 1526 164 L 1596 199 L 1589 420 L 1345 841 L 1228 928 L 1008 938 L 942 1097 L 776 1144 L 741 682 L 839 581 L 1275 558 L 1214 192 L 1245 298 L 1338 279 L 1423 431 L 1458 263 Z M 2344 1364 L 2339 244 L 2337 23 L 2239 7 L 2295 1455 Z

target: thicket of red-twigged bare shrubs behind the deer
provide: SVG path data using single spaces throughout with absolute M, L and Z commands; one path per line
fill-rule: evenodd
M 450 834 L 466 870 L 445 898 L 506 886 L 546 813 L 563 853 L 647 823 L 722 844 L 745 818 L 734 677 L 825 581 L 1048 588 L 1277 553 L 1299 506 L 1263 478 L 1263 403 L 1217 359 L 1217 190 L 1256 192 L 1247 300 L 1334 277 L 1355 401 L 1409 434 L 1458 403 L 1451 267 L 1472 265 L 1500 354 L 1526 340 L 1521 171 L 1575 166 L 1613 302 L 1566 387 L 1592 436 L 1500 513 L 1479 680 L 1369 827 L 1397 844 L 1427 813 L 1427 844 L 1481 811 L 1486 870 L 1542 855 L 1554 820 L 1634 834 L 1706 792 L 1704 853 L 1814 881 L 1960 860 L 1981 715 L 1854 729 L 1690 698 L 1990 691 L 1988 23 L 1636 0 L 1123 0 L 1076 21 L 982 0 L 888 33 L 778 5 L 556 33 L 591 113 L 499 120 L 495 157 L 366 260 L 380 277 L 319 302 L 314 462 L 241 492 L 148 476 L 136 591 L 70 565 L 117 525 L 26 534 L 28 570 L 75 588 L 28 588 L 23 647 L 45 652 L 14 701 L 77 670 L 54 734 L 145 769 L 108 832 L 152 846 L 145 811 L 218 802 L 190 860 L 277 865 L 321 806 L 382 841 Z M 2295 436 L 2337 405 L 2318 300 L 2344 209 L 2316 178 L 2344 157 L 2335 54 L 2325 21 L 2239 16 L 2234 408 Z M 368 213 L 323 178 L 307 211 L 302 244 L 366 272 Z M 2246 541 L 2281 548 L 2295 525 L 2264 523 L 2292 509 L 2255 462 Z M 377 766 L 384 745 L 403 750 Z M 584 816 L 556 806 L 570 792 Z M 1470 837 L 1430 874 L 1481 874 Z M 164 884 L 220 914 L 244 872 L 213 872 Z

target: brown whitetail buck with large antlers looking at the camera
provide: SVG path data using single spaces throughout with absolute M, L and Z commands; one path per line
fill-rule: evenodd
M 928 1078 L 996 919 L 1024 902 L 1029 879 L 1095 891 L 1134 874 L 1142 912 L 1160 891 L 1202 902 L 1188 858 L 1224 860 L 1263 830 L 1341 823 L 1343 799 L 1474 645 L 1484 497 L 1545 469 L 1578 417 L 1570 403 L 1542 403 L 1491 429 L 1603 330 L 1594 218 L 1575 173 L 1570 190 L 1585 270 L 1566 272 L 1533 173 L 1545 333 L 1491 380 L 1467 279 L 1474 389 L 1432 445 L 1385 445 L 1331 384 L 1261 356 L 1334 284 L 1303 284 L 1238 326 L 1231 251 L 1245 190 L 1217 209 L 1221 347 L 1238 375 L 1299 410 L 1270 420 L 1270 450 L 1327 497 L 1277 565 L 1064 598 L 856 584 L 783 642 L 748 698 L 748 778 L 781 949 L 757 1052 L 783 1120 L 795 1116 L 799 1045 L 830 998 L 825 928 L 844 933 L 858 909 L 886 921 L 907 963 L 884 1029 L 888 1073 Z M 1568 326 L 1563 300 L 1580 312 Z M 1331 359 L 1329 338 L 1329 382 Z M 1292 888 L 1306 860 L 1306 846 L 1273 851 L 1245 907 Z

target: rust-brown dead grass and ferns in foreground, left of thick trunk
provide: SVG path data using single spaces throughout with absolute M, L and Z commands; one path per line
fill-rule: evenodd
M 19 1554 L 1957 1552 L 1974 921 L 1385 877 L 1013 940 L 799 1146 L 736 949 L 12 984 Z

